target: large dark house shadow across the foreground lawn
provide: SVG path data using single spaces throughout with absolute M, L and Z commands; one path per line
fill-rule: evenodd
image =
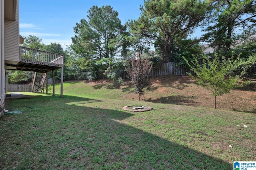
M 223 160 L 122 123 L 134 114 L 107 109 L 104 101 L 36 96 L 7 102 L 7 107 L 14 106 L 24 113 L 0 120 L 5 134 L 0 136 L 1 169 L 232 168 Z

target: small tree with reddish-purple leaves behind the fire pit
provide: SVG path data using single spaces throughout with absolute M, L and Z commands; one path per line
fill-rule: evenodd
M 140 96 L 144 94 L 142 89 L 150 85 L 151 69 L 152 63 L 148 58 L 131 58 L 131 64 L 127 72 L 132 79 L 132 84 L 135 86 L 136 92 L 139 94 L 139 101 Z

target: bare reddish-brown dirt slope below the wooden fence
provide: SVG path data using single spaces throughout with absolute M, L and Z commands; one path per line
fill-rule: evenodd
M 255 81 L 255 79 L 253 79 Z M 214 107 L 211 92 L 198 86 L 189 76 L 162 76 L 151 79 L 152 85 L 141 96 L 142 101 L 187 106 Z M 138 100 L 138 94 L 130 80 L 120 85 L 125 93 L 121 99 Z M 256 85 L 231 90 L 229 94 L 217 97 L 217 108 L 256 113 Z

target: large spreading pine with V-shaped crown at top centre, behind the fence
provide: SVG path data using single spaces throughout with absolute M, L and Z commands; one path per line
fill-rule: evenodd
M 175 57 L 175 46 L 204 20 L 209 4 L 206 0 L 144 1 L 145 8 L 141 6 L 140 18 L 130 22 L 130 31 L 154 44 L 164 62 L 169 62 Z

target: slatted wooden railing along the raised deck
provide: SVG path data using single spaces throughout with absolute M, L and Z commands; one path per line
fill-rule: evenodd
M 20 47 L 20 61 L 23 63 L 43 64 L 49 66 L 64 66 L 64 57 L 61 54 L 51 53 Z

